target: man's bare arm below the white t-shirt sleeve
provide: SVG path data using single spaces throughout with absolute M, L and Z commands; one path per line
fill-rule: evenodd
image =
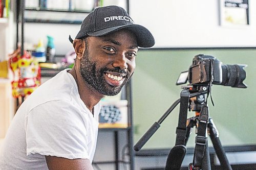
M 56 156 L 46 156 L 49 170 L 93 170 L 89 159 L 67 159 Z

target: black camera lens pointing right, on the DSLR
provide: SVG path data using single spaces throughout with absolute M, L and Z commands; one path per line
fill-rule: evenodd
M 247 86 L 243 84 L 243 81 L 246 77 L 245 65 L 221 65 L 222 68 L 222 85 L 246 88 Z

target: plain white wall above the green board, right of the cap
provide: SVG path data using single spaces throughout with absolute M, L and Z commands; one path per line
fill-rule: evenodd
M 256 1 L 249 1 L 250 25 L 220 26 L 220 0 L 130 0 L 135 23 L 148 28 L 154 47 L 256 46 Z

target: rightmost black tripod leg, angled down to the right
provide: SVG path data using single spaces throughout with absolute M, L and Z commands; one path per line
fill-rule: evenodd
M 211 118 L 209 118 L 208 128 L 209 128 L 209 133 L 210 133 L 210 139 L 212 141 L 212 144 L 214 145 L 214 149 L 215 149 L 215 152 L 220 160 L 222 169 L 232 170 L 232 167 L 228 162 L 225 151 L 224 151 L 221 141 L 219 139 L 219 132 L 218 132 L 217 128 L 215 127 L 215 124 Z

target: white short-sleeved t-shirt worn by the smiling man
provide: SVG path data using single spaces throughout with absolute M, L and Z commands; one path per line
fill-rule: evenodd
M 38 87 L 19 107 L 0 155 L 0 169 L 48 169 L 45 155 L 91 162 L 100 106 L 80 99 L 68 69 Z

